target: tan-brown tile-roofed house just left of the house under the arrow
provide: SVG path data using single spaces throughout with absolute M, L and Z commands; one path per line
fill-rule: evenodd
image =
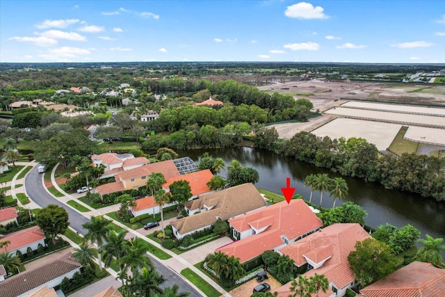
M 218 218 L 229 220 L 265 207 L 266 202 L 257 188 L 249 183 L 202 195 L 186 202 L 184 206 L 189 211 L 200 209 L 201 212 L 171 223 L 173 234 L 178 239 L 210 227 Z

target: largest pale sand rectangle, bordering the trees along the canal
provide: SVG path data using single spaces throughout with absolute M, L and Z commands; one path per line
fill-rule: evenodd
M 337 118 L 315 129 L 312 133 L 321 137 L 329 136 L 332 139 L 361 137 L 365 138 L 369 143 L 373 143 L 378 150 L 386 150 L 401 127 L 402 125 L 386 122 Z

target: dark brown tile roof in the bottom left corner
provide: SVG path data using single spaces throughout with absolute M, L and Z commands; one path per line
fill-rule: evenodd
M 30 271 L 24 271 L 1 282 L 1 297 L 16 297 L 40 287 L 55 278 L 81 268 L 81 264 L 68 252 L 60 259 L 49 262 Z

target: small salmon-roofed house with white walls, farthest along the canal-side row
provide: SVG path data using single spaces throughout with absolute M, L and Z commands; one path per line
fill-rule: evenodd
M 121 171 L 131 170 L 149 163 L 144 156 L 135 158 L 133 154 L 115 154 L 113 152 L 95 154 L 91 157 L 91 160 L 92 165 L 95 167 L 105 166 L 101 179 L 113 177 Z

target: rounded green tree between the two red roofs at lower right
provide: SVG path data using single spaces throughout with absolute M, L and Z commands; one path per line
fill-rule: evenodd
M 348 255 L 354 278 L 362 287 L 386 278 L 396 269 L 396 256 L 386 243 L 375 239 L 365 239 L 355 243 L 355 250 Z

